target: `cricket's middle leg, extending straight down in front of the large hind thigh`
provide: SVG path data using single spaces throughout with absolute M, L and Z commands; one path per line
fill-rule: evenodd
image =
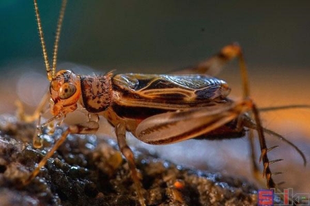
M 126 127 L 125 123 L 120 123 L 115 127 L 116 137 L 118 141 L 118 147 L 121 150 L 124 157 L 127 159 L 128 165 L 130 167 L 130 172 L 132 173 L 132 180 L 136 186 L 136 192 L 140 205 L 145 205 L 145 200 L 142 194 L 141 178 L 139 178 L 138 170 L 136 169 L 136 164 L 134 163 L 134 154 L 126 143 Z

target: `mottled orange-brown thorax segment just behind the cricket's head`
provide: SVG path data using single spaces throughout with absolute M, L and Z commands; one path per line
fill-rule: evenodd
M 112 99 L 112 73 L 105 76 L 81 76 L 83 104 L 90 113 L 105 111 Z

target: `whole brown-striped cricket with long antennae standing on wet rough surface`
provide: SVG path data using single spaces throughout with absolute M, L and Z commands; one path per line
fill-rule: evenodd
M 254 132 L 260 144 L 262 176 L 267 188 L 277 188 L 269 165 L 282 159 L 269 160 L 268 153 L 277 146 L 267 147 L 265 135 L 273 135 L 291 145 L 307 163 L 302 151 L 291 141 L 272 130 L 264 128 L 260 119 L 260 109 L 250 97 L 247 69 L 242 49 L 231 43 L 220 52 L 196 67 L 176 71 L 171 74 L 106 73 L 103 76 L 82 76 L 74 71 L 56 71 L 56 58 L 61 34 L 61 25 L 67 0 L 62 1 L 56 27 L 52 65 L 48 60 L 45 40 L 39 15 L 37 0 L 34 10 L 47 78 L 49 92 L 32 115 L 20 114 L 25 122 L 38 122 L 34 135 L 34 148 L 41 148 L 43 128 L 63 123 L 68 113 L 87 112 L 88 121 L 70 125 L 56 141 L 53 148 L 41 159 L 24 185 L 29 184 L 40 172 L 54 151 L 63 144 L 69 134 L 93 134 L 99 129 L 99 117 L 104 117 L 115 128 L 119 150 L 127 159 L 132 181 L 136 187 L 136 198 L 145 205 L 141 175 L 134 162 L 132 150 L 126 143 L 126 132 L 147 144 L 174 144 L 187 139 L 233 139 L 249 137 L 251 141 L 251 161 L 254 177 L 261 179 L 254 155 Z M 231 100 L 229 85 L 214 75 L 227 62 L 238 58 L 242 79 L 243 97 Z M 41 114 L 46 111 L 48 102 L 52 116 L 41 123 Z

